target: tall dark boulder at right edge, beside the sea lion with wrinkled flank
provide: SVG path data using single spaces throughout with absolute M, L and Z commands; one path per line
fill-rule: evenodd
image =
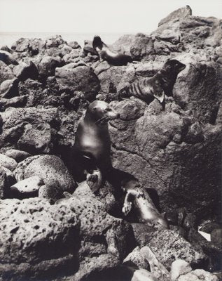
M 184 110 L 193 110 L 199 121 L 214 124 L 222 97 L 221 77 L 216 63 L 190 62 L 176 80 L 174 98 Z

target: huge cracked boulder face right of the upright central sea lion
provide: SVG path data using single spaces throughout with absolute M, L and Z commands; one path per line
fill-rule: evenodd
M 183 206 L 202 215 L 207 207 L 208 216 L 215 214 L 221 192 L 216 176 L 221 173 L 221 126 L 199 125 L 202 142 L 197 138 L 190 145 L 186 134 L 197 119 L 178 105 L 169 102 L 162 112 L 154 101 L 148 106 L 138 99 L 114 103 L 121 119 L 109 127 L 113 166 L 139 178 L 144 188 L 155 188 L 162 211 Z

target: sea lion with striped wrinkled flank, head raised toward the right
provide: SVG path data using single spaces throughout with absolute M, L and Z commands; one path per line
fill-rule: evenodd
M 162 104 L 162 107 L 165 107 L 165 94 L 172 96 L 177 75 L 185 67 L 186 65 L 180 63 L 179 60 L 167 60 L 162 69 L 153 77 L 134 81 L 130 86 L 121 89 L 118 97 L 129 98 L 130 96 L 136 96 L 146 101 L 146 103 L 151 103 L 156 98 Z

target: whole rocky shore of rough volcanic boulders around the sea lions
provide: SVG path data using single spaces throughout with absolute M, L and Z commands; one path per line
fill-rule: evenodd
M 186 6 L 111 48 L 137 63 L 111 66 L 92 42 L 60 35 L 1 46 L 0 280 L 222 280 L 222 20 Z M 117 100 L 169 58 L 186 69 L 165 110 Z M 120 113 L 109 122 L 113 167 L 139 179 L 169 229 L 125 218 L 109 183 L 97 195 L 76 183 L 70 152 L 95 99 Z

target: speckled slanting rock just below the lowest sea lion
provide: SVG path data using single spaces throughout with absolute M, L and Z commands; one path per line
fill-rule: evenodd
M 196 249 L 178 233 L 172 230 L 155 232 L 148 242 L 148 247 L 155 254 L 156 259 L 162 263 L 167 270 L 176 259 L 183 259 L 190 266 L 200 266 L 207 261 L 201 249 Z

